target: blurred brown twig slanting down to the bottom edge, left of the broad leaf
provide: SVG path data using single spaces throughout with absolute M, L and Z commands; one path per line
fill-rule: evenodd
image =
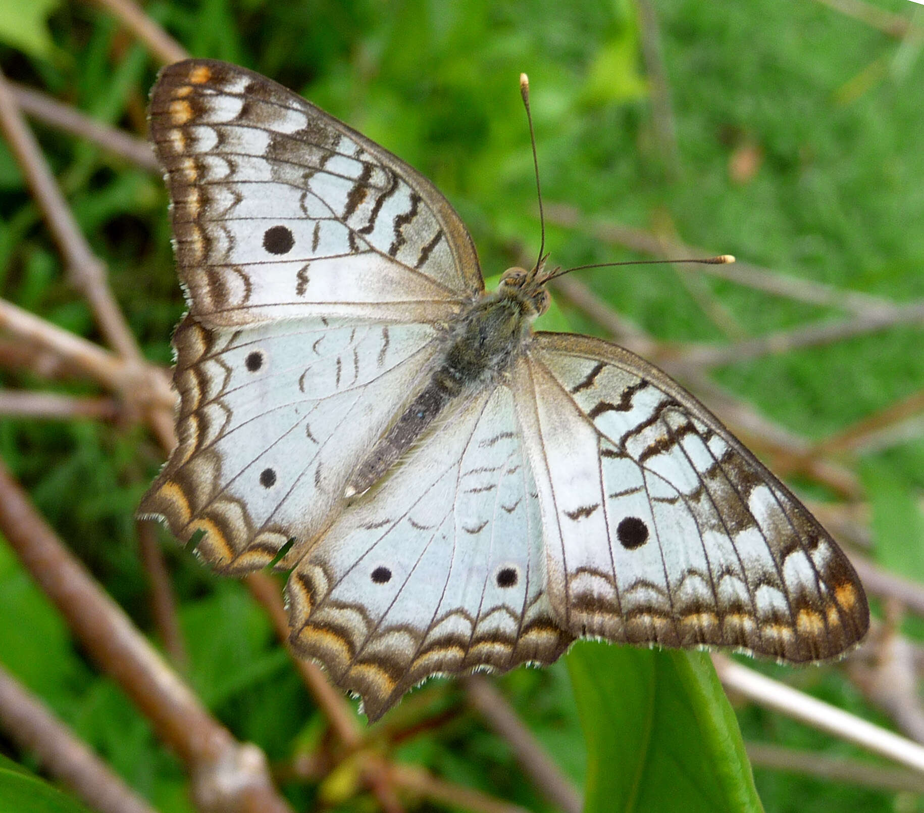
M 537 790 L 565 813 L 580 813 L 583 803 L 577 790 L 536 742 L 504 696 L 479 674 L 464 678 L 462 683 L 471 705 L 494 733 L 510 745 Z

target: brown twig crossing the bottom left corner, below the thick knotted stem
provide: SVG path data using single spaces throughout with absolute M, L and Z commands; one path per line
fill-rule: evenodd
M 100 813 L 155 813 L 91 749 L 0 666 L 0 723 L 22 751 Z

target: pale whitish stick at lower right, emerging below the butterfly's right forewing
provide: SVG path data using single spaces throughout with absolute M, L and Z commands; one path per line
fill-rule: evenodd
M 719 680 L 729 691 L 924 774 L 924 747 L 921 745 L 764 677 L 718 653 L 712 654 L 712 662 Z

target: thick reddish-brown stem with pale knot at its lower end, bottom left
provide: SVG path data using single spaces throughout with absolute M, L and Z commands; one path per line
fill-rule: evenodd
M 61 544 L 2 464 L 0 529 L 91 657 L 187 765 L 202 810 L 289 810 L 270 782 L 261 750 L 237 743 L 202 708 L 199 698 Z

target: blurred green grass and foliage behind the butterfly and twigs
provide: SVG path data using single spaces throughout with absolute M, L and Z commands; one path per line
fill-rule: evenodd
M 906 0 L 877 5 L 924 26 Z M 21 10 L 27 6 L 28 14 Z M 657 0 L 653 7 L 673 105 L 676 172 L 653 124 L 640 55 L 644 32 L 630 0 L 567 6 L 553 0 L 154 0 L 146 10 L 191 54 L 272 76 L 417 166 L 468 223 L 486 277 L 521 262 L 539 243 L 517 88 L 519 72 L 526 71 L 547 204 L 676 234 L 845 289 L 899 302 L 924 296 L 919 45 L 898 43 L 808 0 Z M 0 60 L 11 78 L 103 122 L 143 131 L 156 65 L 112 18 L 95 6 L 16 0 L 0 4 L 0 18 Z M 168 338 L 184 306 L 160 179 L 91 144 L 36 129 L 80 227 L 109 266 L 116 298 L 144 351 L 168 363 Z M 730 166 L 740 154 L 757 163 L 735 179 Z M 547 248 L 561 265 L 631 257 L 553 225 Z M 662 339 L 723 339 L 669 266 L 598 269 L 582 278 Z M 748 335 L 836 315 L 728 282 L 706 285 Z M 99 339 L 2 145 L 0 286 L 6 299 Z M 555 328 L 600 334 L 566 306 L 554 319 Z M 918 391 L 921 346 L 917 328 L 896 328 L 736 363 L 716 377 L 772 419 L 824 437 Z M 47 387 L 37 373 L 3 378 L 9 387 Z M 91 392 L 74 382 L 55 388 Z M 131 517 L 161 462 L 152 439 L 121 425 L 5 420 L 0 454 L 57 532 L 150 630 Z M 912 437 L 869 453 L 861 473 L 877 555 L 920 578 L 924 440 Z M 168 540 L 165 550 L 188 641 L 190 683 L 238 737 L 257 742 L 271 759 L 310 751 L 322 735 L 321 721 L 261 611 L 241 585 L 207 573 Z M 84 661 L 6 548 L 0 548 L 0 612 L 6 668 L 164 813 L 190 810 L 176 759 L 125 696 Z M 836 669 L 803 671 L 799 680 L 823 699 L 878 719 Z M 500 683 L 558 764 L 583 782 L 584 740 L 565 666 L 517 670 Z M 396 758 L 529 809 L 548 809 L 505 744 L 461 710 L 451 684 L 431 686 L 393 712 L 395 725 L 460 713 L 403 743 Z M 857 756 L 851 746 L 758 708 L 745 709 L 739 720 L 751 738 Z M 676 745 L 693 750 L 700 743 L 678 733 Z M 769 811 L 922 809 L 906 795 L 755 773 Z M 345 788 L 352 790 L 351 779 L 340 773 L 321 788 L 292 782 L 286 793 L 300 807 L 323 799 L 340 809 L 368 809 L 368 799 L 346 801 Z

